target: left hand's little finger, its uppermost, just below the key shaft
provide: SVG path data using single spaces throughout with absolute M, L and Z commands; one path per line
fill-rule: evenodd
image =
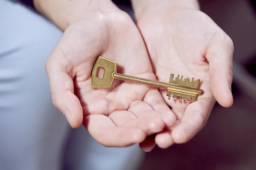
M 163 100 L 162 95 L 157 89 L 148 91 L 143 101 L 148 103 L 154 109 L 154 111 L 157 111 L 161 114 L 161 118 L 167 127 L 172 127 L 175 125 L 176 116 Z

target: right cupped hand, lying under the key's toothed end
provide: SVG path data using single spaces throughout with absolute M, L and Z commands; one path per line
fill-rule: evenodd
M 170 74 L 201 79 L 204 91 L 198 100 L 186 104 L 179 99 L 163 99 L 177 116 L 177 124 L 158 133 L 160 147 L 192 139 L 207 122 L 215 104 L 230 107 L 233 42 L 206 14 L 193 8 L 158 8 L 144 10 L 137 16 L 157 80 L 169 82 Z

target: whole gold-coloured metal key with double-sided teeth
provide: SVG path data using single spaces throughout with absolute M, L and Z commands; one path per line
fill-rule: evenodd
M 102 78 L 97 77 L 99 68 L 104 68 L 104 74 Z M 168 99 L 171 99 L 171 96 L 174 99 L 177 99 L 177 96 L 180 96 L 180 101 L 182 98 L 188 102 L 190 98 L 192 98 L 192 102 L 197 100 L 197 96 L 203 94 L 203 91 L 199 89 L 200 79 L 192 81 L 189 78 L 183 80 L 183 76 L 178 75 L 174 79 L 174 74 L 171 74 L 169 83 L 160 82 L 151 79 L 144 79 L 140 77 L 128 76 L 124 74 L 116 73 L 116 62 L 106 59 L 103 57 L 98 57 L 96 63 L 92 70 L 92 88 L 111 88 L 114 79 L 129 81 L 129 82 L 137 82 L 144 85 L 151 85 L 158 88 L 166 88 Z

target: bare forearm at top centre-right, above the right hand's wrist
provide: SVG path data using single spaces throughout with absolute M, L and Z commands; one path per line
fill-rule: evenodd
M 199 9 L 198 0 L 131 0 L 136 17 L 144 11 L 155 9 L 194 8 Z

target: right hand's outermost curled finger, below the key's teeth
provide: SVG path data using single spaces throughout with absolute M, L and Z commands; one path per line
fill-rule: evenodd
M 206 124 L 214 104 L 215 100 L 207 97 L 188 105 L 180 123 L 172 130 L 174 142 L 185 143 L 192 139 Z

